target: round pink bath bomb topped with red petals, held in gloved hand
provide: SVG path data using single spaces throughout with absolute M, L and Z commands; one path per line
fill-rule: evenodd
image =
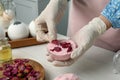
M 47 45 L 47 50 L 55 60 L 68 60 L 77 45 L 72 40 L 53 40 Z

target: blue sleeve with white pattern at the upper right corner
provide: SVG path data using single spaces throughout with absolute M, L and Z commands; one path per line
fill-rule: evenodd
M 120 0 L 110 0 L 101 14 L 111 22 L 113 28 L 120 28 Z

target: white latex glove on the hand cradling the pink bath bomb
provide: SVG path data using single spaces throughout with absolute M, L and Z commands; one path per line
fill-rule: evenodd
M 70 60 L 56 61 L 52 59 L 50 54 L 48 54 L 48 61 L 51 61 L 55 66 L 69 66 L 73 64 L 92 46 L 94 40 L 106 31 L 106 28 L 106 24 L 99 17 L 94 18 L 72 37 L 72 40 L 77 43 L 78 48 L 73 50 Z

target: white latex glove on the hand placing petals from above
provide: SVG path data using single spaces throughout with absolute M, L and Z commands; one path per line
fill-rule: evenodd
M 37 41 L 51 41 L 57 38 L 56 24 L 62 18 L 66 6 L 67 0 L 50 0 L 35 20 Z

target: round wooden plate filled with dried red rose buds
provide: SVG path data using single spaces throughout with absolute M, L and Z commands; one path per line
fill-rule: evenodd
M 44 80 L 43 66 L 31 59 L 13 59 L 0 64 L 0 80 Z

